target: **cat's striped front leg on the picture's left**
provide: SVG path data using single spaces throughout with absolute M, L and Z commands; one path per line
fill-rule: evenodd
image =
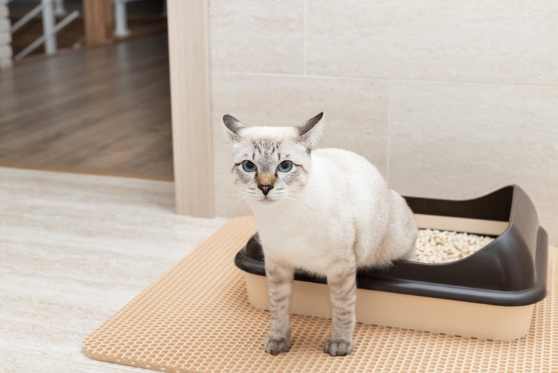
M 272 260 L 265 261 L 265 275 L 269 289 L 271 332 L 264 341 L 265 352 L 276 355 L 291 348 L 289 301 L 293 286 L 294 268 Z

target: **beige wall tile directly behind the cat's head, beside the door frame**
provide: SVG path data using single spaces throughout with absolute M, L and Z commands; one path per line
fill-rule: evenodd
M 387 89 L 386 82 L 369 79 L 212 74 L 216 213 L 247 212 L 242 202 L 229 207 L 231 147 L 223 136 L 223 114 L 247 125 L 298 125 L 324 111 L 320 147 L 356 151 L 385 172 Z

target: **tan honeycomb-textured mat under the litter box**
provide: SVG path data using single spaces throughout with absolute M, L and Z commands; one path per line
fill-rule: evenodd
M 163 372 L 558 372 L 557 255 L 548 297 L 527 337 L 512 342 L 358 324 L 349 356 L 322 352 L 331 321 L 291 319 L 293 345 L 265 354 L 269 312 L 249 305 L 236 252 L 256 231 L 231 220 L 83 342 L 93 359 Z M 459 320 L 455 320 L 459 322 Z

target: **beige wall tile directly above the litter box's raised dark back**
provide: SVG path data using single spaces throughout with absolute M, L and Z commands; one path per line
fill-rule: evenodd
M 519 184 L 558 243 L 558 88 L 391 84 L 392 187 L 472 198 Z

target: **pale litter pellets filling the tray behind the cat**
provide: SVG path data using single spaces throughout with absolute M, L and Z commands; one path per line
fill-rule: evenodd
M 448 263 L 468 257 L 493 242 L 492 237 L 437 229 L 420 229 L 415 244 L 416 261 Z

